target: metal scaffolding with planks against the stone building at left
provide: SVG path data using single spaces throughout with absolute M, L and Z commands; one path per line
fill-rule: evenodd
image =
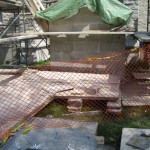
M 34 1 L 35 2 L 35 1 Z M 40 1 L 38 1 L 40 3 Z M 27 0 L 23 0 L 22 3 L 18 4 L 15 2 L 6 2 L 6 1 L 0 1 L 0 9 L 2 12 L 8 12 L 8 13 L 13 13 L 14 14 L 14 18 L 11 20 L 11 22 L 7 25 L 2 24 L 1 26 L 3 26 L 2 31 L 0 32 L 0 45 L 5 45 L 6 43 L 11 44 L 12 46 L 15 46 L 15 49 L 17 51 L 17 55 L 16 55 L 16 59 L 17 59 L 17 65 L 21 64 L 20 61 L 20 56 L 22 56 L 25 61 L 26 61 L 26 65 L 28 65 L 28 57 L 30 55 L 29 53 L 29 48 L 32 49 L 36 49 L 39 47 L 39 45 L 44 41 L 45 46 L 42 46 L 43 48 L 46 48 L 48 51 L 50 51 L 49 49 L 49 42 L 48 42 L 48 38 L 47 36 L 38 36 L 38 35 L 32 35 L 32 33 L 30 33 L 29 35 L 24 35 L 22 36 L 22 34 L 25 34 L 27 32 L 26 29 L 26 23 L 29 23 L 32 28 L 34 29 L 34 31 L 39 32 L 39 30 L 37 30 L 37 27 L 34 24 L 34 21 L 36 21 L 38 23 L 38 25 L 40 27 L 42 27 L 42 31 L 43 29 L 46 28 L 48 29 L 48 23 L 43 21 L 45 24 L 43 26 L 43 22 L 36 20 L 35 17 L 35 13 L 37 11 L 37 9 L 33 9 L 38 7 L 39 9 L 44 9 L 44 6 L 40 3 L 40 5 L 38 6 L 35 3 L 32 3 L 32 1 L 27 1 Z M 34 11 L 34 13 L 33 13 Z M 27 18 L 26 15 L 32 15 L 32 17 Z M 40 23 L 41 22 L 41 23 Z M 40 23 L 40 24 L 39 24 Z M 15 30 L 12 35 L 8 34 L 7 32 L 9 31 L 9 29 L 14 26 Z M 21 26 L 22 26 L 22 31 L 21 32 Z M 17 35 L 20 34 L 20 35 Z M 36 40 L 38 40 L 38 42 L 36 42 Z M 36 43 L 33 44 L 32 43 Z M 22 45 L 24 45 L 22 47 Z M 23 54 L 23 51 L 25 51 L 25 54 Z M 47 59 L 49 59 L 47 57 Z

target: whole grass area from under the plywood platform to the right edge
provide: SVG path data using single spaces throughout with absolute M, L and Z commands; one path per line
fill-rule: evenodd
M 61 101 L 62 102 L 62 101 Z M 97 134 L 105 137 L 106 144 L 115 146 L 120 144 L 123 128 L 145 128 L 150 129 L 150 109 L 149 107 L 126 107 L 123 108 L 122 116 L 115 117 L 102 111 L 101 115 L 95 116 L 63 116 L 69 114 L 66 102 L 51 103 L 37 114 L 37 117 L 52 115 L 55 118 L 70 120 L 83 120 L 88 122 L 98 122 Z M 82 111 L 93 111 L 94 107 L 83 105 Z M 97 109 L 98 110 L 98 109 Z

